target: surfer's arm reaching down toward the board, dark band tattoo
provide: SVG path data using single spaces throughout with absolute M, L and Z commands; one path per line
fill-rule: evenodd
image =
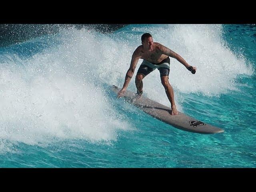
M 132 60 L 131 60 L 131 64 L 130 64 L 130 68 L 128 69 L 128 71 L 126 72 L 126 76 L 125 76 L 125 80 L 124 80 L 124 85 L 123 88 L 120 90 L 120 92 L 118 92 L 117 98 L 120 98 L 124 95 L 124 92 L 126 91 L 128 84 L 134 74 L 136 65 L 138 63 L 140 56 L 138 56 L 136 54 L 136 51 L 133 53 L 132 55 Z

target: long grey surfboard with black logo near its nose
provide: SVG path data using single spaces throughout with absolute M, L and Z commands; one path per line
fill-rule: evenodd
M 112 90 L 118 94 L 120 88 L 113 85 Z M 161 120 L 162 122 L 165 122 L 175 128 L 200 134 L 214 134 L 224 132 L 224 130 L 221 128 L 192 118 L 182 112 L 178 112 L 177 115 L 171 115 L 172 109 L 170 107 L 164 106 L 154 100 L 146 98 L 143 96 L 143 94 L 138 98 L 135 93 L 126 90 L 124 93 L 124 98 L 152 117 Z

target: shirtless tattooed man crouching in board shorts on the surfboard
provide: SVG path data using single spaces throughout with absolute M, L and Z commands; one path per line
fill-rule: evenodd
M 164 86 L 166 95 L 171 103 L 172 115 L 177 115 L 178 111 L 176 109 L 176 105 L 174 103 L 174 93 L 172 86 L 169 83 L 169 72 L 170 72 L 170 57 L 175 58 L 180 63 L 182 63 L 188 70 L 192 72 L 192 74 L 196 73 L 196 67 L 190 66 L 180 55 L 173 52 L 169 48 L 163 46 L 160 43 L 154 42 L 152 36 L 149 33 L 145 33 L 141 36 L 142 45 L 138 46 L 134 53 L 132 54 L 132 60 L 130 64 L 130 68 L 128 69 L 124 86 L 118 92 L 118 98 L 124 95 L 128 84 L 134 74 L 136 65 L 139 59 L 143 59 L 140 68 L 138 69 L 135 84 L 137 88 L 137 95 L 140 96 L 142 94 L 143 83 L 142 79 L 148 75 L 150 72 L 155 70 L 156 68 L 160 72 L 160 78 L 162 85 Z

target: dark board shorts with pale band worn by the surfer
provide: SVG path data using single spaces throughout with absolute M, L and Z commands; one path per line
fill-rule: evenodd
M 150 63 L 146 60 L 143 60 L 143 62 L 140 64 L 140 68 L 138 69 L 138 73 L 142 73 L 145 76 L 150 74 L 150 72 L 154 71 L 155 69 L 158 69 L 160 72 L 160 77 L 162 76 L 169 76 L 170 72 L 170 58 L 166 58 L 162 60 L 160 63 Z

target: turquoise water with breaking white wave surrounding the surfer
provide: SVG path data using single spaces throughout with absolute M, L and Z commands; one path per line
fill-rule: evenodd
M 192 75 L 171 59 L 178 110 L 224 133 L 185 132 L 116 99 L 109 85 L 122 86 L 144 32 L 198 68 Z M 2 47 L 0 167 L 254 168 L 255 41 L 255 25 L 137 24 Z M 169 105 L 158 73 L 144 94 Z

